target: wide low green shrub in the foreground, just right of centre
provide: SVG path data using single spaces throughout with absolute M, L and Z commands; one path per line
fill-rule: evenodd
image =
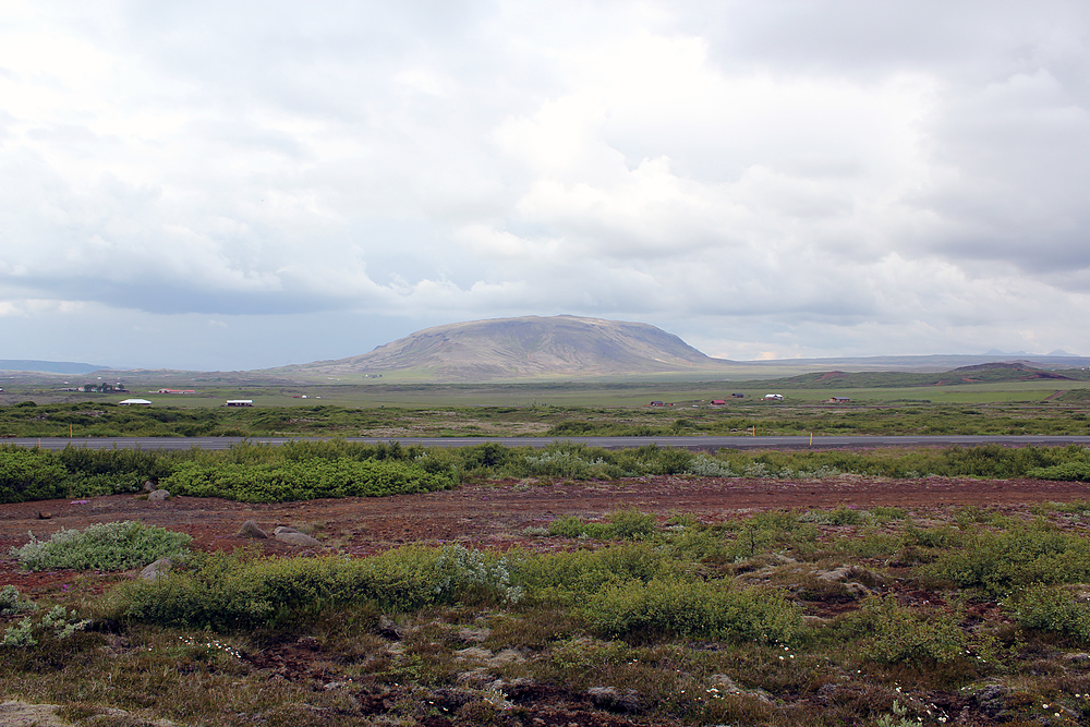
M 799 607 L 777 591 L 673 578 L 608 586 L 591 597 L 584 614 L 596 633 L 610 638 L 771 643 L 803 630 Z

